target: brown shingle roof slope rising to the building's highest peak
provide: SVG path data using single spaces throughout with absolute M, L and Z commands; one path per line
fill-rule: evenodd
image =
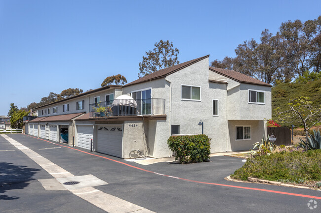
M 123 87 L 127 87 L 127 86 L 130 86 L 130 85 L 134 85 L 134 84 L 139 84 L 139 83 L 142 83 L 142 82 L 145 82 L 145 81 L 151 81 L 151 80 L 154 80 L 154 79 L 158 79 L 158 78 L 162 78 L 162 77 L 165 77 L 166 75 L 169 75 L 173 72 L 176 72 L 180 69 L 183 69 L 187 66 L 190 66 L 192 65 L 193 63 L 196 63 L 198 61 L 201 61 L 203 59 L 206 59 L 208 58 L 209 55 L 207 56 L 203 56 L 201 58 L 198 58 L 198 59 L 194 59 L 194 60 L 191 60 L 191 61 L 186 61 L 184 63 L 180 63 L 180 64 L 177 64 L 177 65 L 174 65 L 174 66 L 171 66 L 171 67 L 167 67 L 167 68 L 164 68 L 164 69 L 160 69 L 156 72 L 153 72 L 151 74 L 148 74 L 140 79 L 137 79 L 135 81 L 132 81 L 126 85 L 124 85 Z

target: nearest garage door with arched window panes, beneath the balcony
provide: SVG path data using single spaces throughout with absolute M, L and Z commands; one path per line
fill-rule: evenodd
M 97 152 L 121 157 L 122 125 L 97 126 Z

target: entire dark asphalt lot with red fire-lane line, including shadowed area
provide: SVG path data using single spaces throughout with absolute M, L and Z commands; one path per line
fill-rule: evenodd
M 321 200 L 315 199 L 318 207 L 310 210 L 311 198 L 301 196 L 321 197 L 321 191 L 226 181 L 243 165 L 240 158 L 215 156 L 203 163 L 144 166 L 24 134 L 7 136 L 75 176 L 90 174 L 108 183 L 95 189 L 157 213 L 304 213 L 321 208 Z M 105 212 L 70 191 L 45 190 L 38 179 L 53 177 L 1 136 L 0 151 L 1 212 Z

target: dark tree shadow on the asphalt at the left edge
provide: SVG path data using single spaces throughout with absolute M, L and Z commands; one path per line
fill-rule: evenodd
M 2 193 L 13 190 L 23 189 L 29 186 L 29 181 L 38 173 L 40 169 L 27 168 L 27 166 L 16 166 L 12 163 L 0 162 L 0 200 L 16 200 L 19 197 L 9 197 Z

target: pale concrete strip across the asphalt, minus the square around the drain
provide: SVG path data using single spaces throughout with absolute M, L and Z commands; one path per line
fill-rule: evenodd
M 42 157 L 37 152 L 30 150 L 28 147 L 20 144 L 19 142 L 13 140 L 7 135 L 1 136 L 6 139 L 9 143 L 15 146 L 17 149 L 21 150 L 21 152 L 25 153 L 28 157 L 30 157 L 33 161 L 35 161 L 38 165 L 40 165 L 44 170 L 46 170 L 50 175 L 54 178 L 70 178 L 74 177 L 73 174 L 61 168 L 60 166 L 52 163 L 50 160 Z M 68 189 L 68 188 L 67 188 Z M 107 211 L 109 213 L 154 213 L 148 209 L 132 204 L 128 201 L 122 200 L 113 195 L 107 194 L 103 191 L 95 189 L 93 187 L 84 187 L 80 189 L 68 189 L 76 196 L 79 196 L 85 201 L 97 206 L 98 208 Z

